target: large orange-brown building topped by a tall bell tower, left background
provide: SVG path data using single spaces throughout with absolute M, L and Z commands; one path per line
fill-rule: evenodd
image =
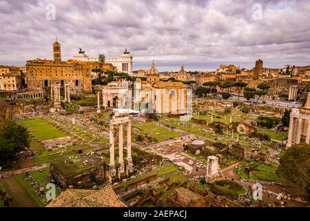
M 92 69 L 102 66 L 100 62 L 61 61 L 61 44 L 53 44 L 53 60 L 27 61 L 27 85 L 30 90 L 47 90 L 55 85 L 70 85 L 70 93 L 92 92 Z

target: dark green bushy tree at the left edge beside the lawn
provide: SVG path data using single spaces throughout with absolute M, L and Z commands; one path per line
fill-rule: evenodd
M 7 166 L 13 157 L 24 151 L 30 145 L 28 131 L 13 121 L 7 121 L 0 131 L 0 162 L 6 162 Z

